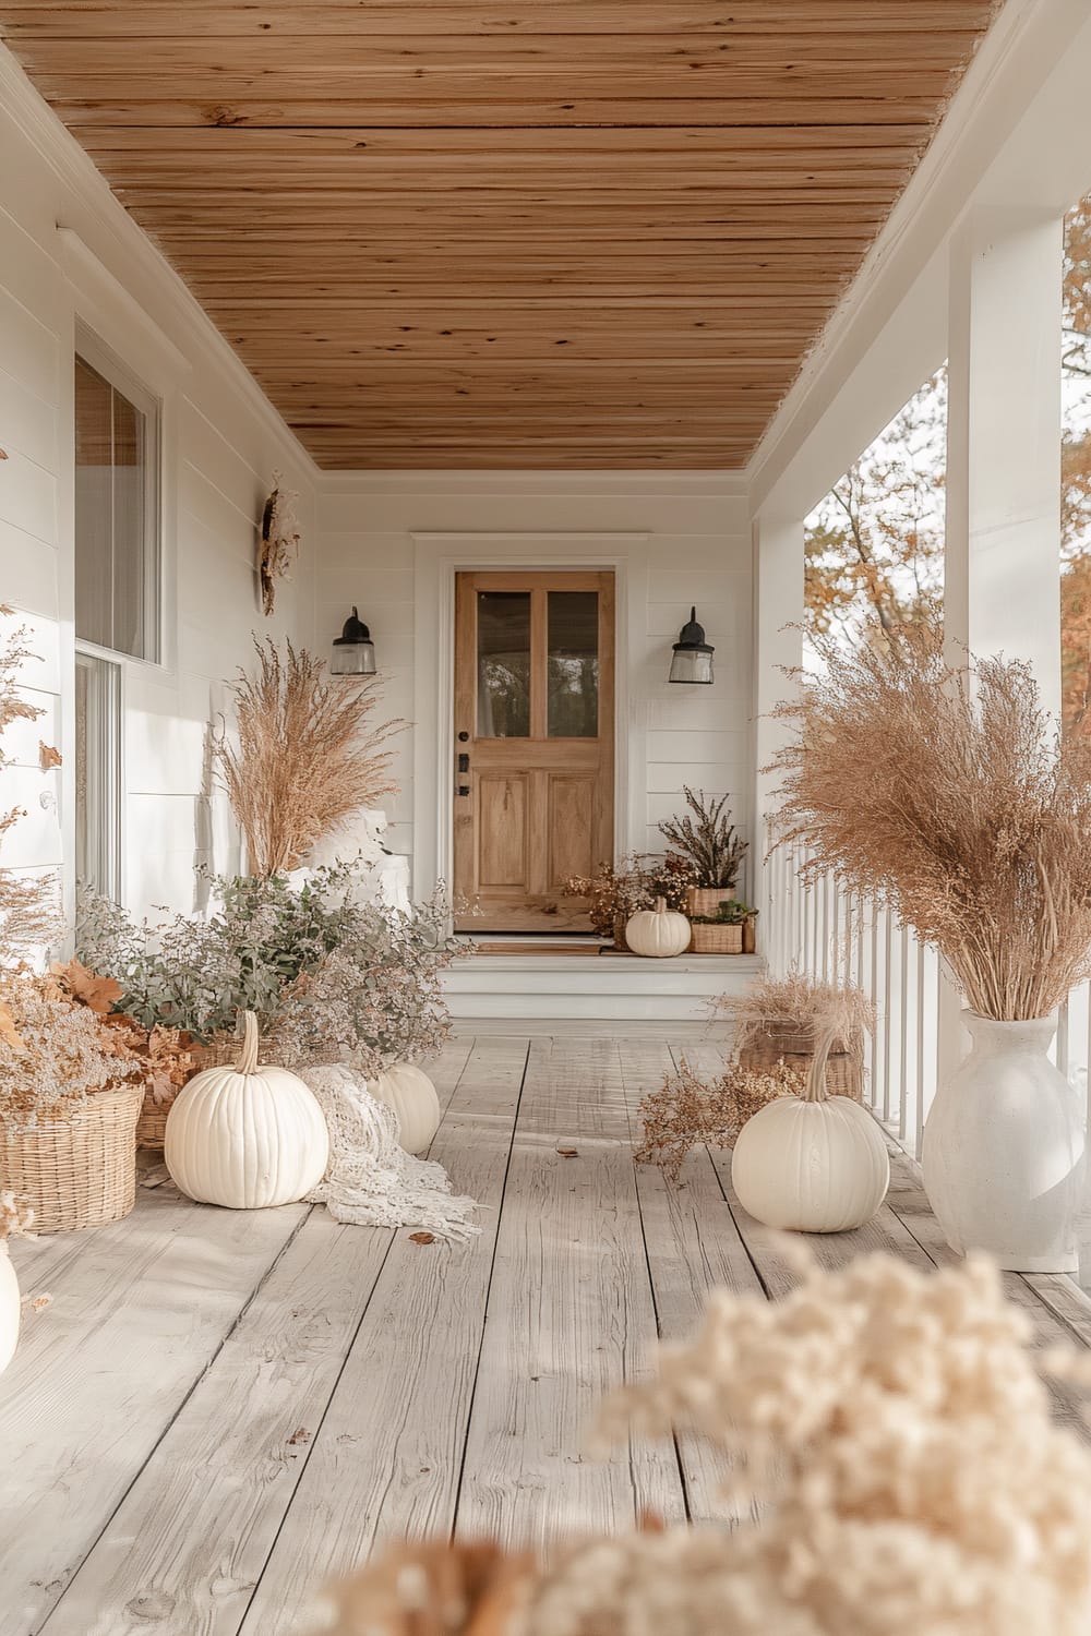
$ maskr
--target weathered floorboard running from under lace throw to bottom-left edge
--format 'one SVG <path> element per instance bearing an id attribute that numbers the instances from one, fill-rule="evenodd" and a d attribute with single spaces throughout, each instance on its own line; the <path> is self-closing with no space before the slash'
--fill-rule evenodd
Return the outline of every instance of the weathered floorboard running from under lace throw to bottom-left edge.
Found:
<path id="1" fill-rule="evenodd" d="M 442 1104 L 469 1050 L 450 1045 L 432 1065 Z M 46 1620 L 49 1636 L 239 1629 L 391 1240 L 309 1212 Z"/>

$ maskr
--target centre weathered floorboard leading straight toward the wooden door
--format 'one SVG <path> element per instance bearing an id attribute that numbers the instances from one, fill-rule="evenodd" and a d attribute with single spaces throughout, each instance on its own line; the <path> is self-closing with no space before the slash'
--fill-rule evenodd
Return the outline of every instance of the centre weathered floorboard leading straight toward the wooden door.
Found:
<path id="1" fill-rule="evenodd" d="M 563 1157 L 558 1148 L 576 1148 Z M 463 1538 L 545 1546 L 684 1517 L 674 1448 L 586 1454 L 656 1345 L 628 1114 L 608 1040 L 533 1040 L 458 1503 Z"/>

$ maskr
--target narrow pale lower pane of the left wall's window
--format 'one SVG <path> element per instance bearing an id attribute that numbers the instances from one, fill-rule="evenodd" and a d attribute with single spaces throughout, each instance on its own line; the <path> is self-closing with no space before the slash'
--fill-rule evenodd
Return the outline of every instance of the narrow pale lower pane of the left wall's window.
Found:
<path id="1" fill-rule="evenodd" d="M 105 897 L 121 877 L 121 672 L 75 656 L 75 874 Z"/>

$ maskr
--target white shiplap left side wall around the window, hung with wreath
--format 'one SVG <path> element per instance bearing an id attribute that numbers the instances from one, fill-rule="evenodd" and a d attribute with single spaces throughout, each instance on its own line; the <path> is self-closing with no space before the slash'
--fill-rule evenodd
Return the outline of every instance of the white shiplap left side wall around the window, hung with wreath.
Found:
<path id="1" fill-rule="evenodd" d="M 20 767 L 0 790 L 0 807 L 28 808 L 3 849 L 11 867 L 57 867 L 72 851 L 72 353 L 80 319 L 164 401 L 165 645 L 162 664 L 124 666 L 124 888 L 137 911 L 188 910 L 195 857 L 219 869 L 237 862 L 222 798 L 211 811 L 206 800 L 206 735 L 224 679 L 247 663 L 252 630 L 312 640 L 316 473 L 0 47 L 0 448 L 8 456 L 0 460 L 0 600 L 31 627 L 44 663 L 28 667 L 26 682 L 49 710 L 18 736 Z M 263 620 L 255 520 L 275 468 L 299 492 L 304 548 L 276 618 Z M 38 769 L 39 736 L 64 749 L 59 774 Z"/>

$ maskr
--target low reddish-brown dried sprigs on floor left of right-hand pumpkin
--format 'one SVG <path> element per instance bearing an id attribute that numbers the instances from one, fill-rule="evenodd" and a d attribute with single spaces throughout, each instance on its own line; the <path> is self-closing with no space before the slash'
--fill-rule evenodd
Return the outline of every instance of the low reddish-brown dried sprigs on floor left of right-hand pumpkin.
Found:
<path id="1" fill-rule="evenodd" d="M 777 1096 L 801 1096 L 805 1086 L 803 1072 L 783 1062 L 762 1072 L 728 1062 L 723 1073 L 703 1078 L 682 1057 L 677 1073 L 664 1075 L 659 1090 L 640 1104 L 643 1140 L 636 1163 L 658 1165 L 669 1181 L 677 1181 L 690 1148 L 705 1142 L 733 1147 L 748 1119 Z"/>

